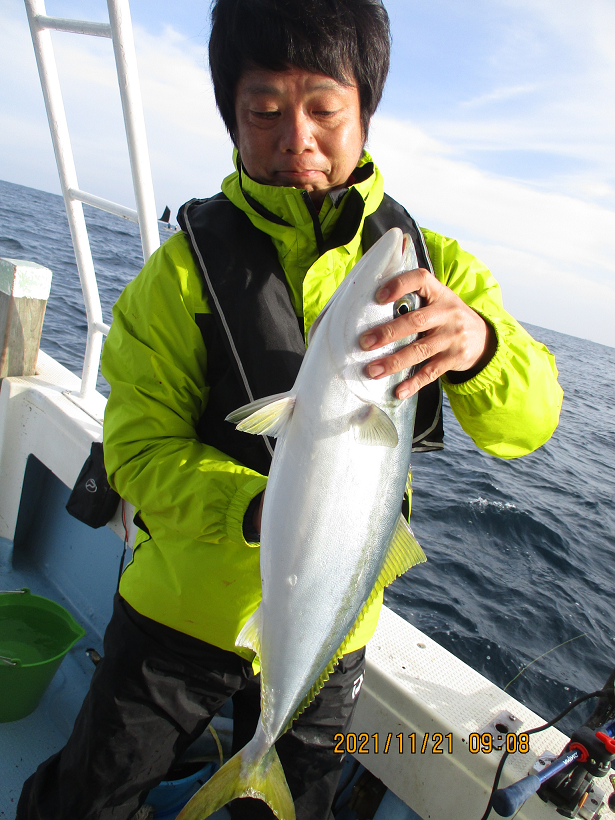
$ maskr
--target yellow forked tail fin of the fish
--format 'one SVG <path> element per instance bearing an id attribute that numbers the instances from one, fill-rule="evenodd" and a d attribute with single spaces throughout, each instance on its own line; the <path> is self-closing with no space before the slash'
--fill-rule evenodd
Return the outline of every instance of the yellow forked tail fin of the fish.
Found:
<path id="1" fill-rule="evenodd" d="M 238 797 L 263 800 L 279 820 L 295 820 L 293 798 L 275 746 L 265 754 L 255 754 L 255 741 L 244 746 L 199 789 L 177 820 L 204 820 Z"/>

